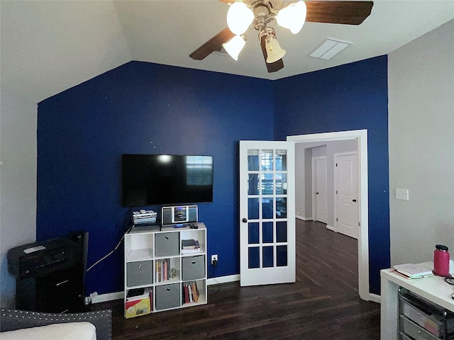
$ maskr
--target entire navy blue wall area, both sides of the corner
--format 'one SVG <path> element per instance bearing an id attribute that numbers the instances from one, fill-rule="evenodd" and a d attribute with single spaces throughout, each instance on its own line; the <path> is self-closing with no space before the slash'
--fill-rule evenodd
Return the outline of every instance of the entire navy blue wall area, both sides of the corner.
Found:
<path id="1" fill-rule="evenodd" d="M 37 239 L 89 232 L 91 265 L 118 244 L 123 153 L 211 154 L 209 277 L 239 273 L 238 141 L 368 130 L 370 291 L 389 267 L 387 57 L 268 81 L 128 62 L 38 104 Z M 147 207 L 160 211 L 160 207 Z M 87 294 L 123 290 L 123 247 L 87 275 Z"/>

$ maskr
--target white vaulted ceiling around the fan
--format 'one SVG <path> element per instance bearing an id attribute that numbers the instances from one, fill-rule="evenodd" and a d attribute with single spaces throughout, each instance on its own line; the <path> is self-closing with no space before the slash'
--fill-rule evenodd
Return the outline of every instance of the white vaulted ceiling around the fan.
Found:
<path id="1" fill-rule="evenodd" d="M 287 1 L 285 1 L 287 3 Z M 376 0 L 360 26 L 275 23 L 284 69 L 267 73 L 255 30 L 238 62 L 191 52 L 226 27 L 228 5 L 205 1 L 0 1 L 1 85 L 37 103 L 131 60 L 280 79 L 386 55 L 454 19 L 454 0 Z M 309 53 L 326 38 L 353 42 L 332 60 Z"/>

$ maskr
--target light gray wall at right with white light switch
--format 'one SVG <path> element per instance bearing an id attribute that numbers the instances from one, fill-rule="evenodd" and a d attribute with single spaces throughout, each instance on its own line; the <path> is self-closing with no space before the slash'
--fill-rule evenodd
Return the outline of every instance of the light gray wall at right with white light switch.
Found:
<path id="1" fill-rule="evenodd" d="M 391 262 L 454 258 L 454 21 L 389 54 Z M 409 189 L 409 201 L 395 188 Z"/>

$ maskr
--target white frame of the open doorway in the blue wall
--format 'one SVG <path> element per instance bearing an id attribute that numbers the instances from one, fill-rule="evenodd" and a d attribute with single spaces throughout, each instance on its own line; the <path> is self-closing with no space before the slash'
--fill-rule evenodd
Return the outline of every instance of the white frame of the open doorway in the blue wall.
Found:
<path id="1" fill-rule="evenodd" d="M 369 205 L 367 186 L 367 130 L 313 133 L 287 136 L 295 143 L 357 140 L 358 198 L 360 199 L 360 233 L 358 238 L 358 293 L 365 301 L 375 300 L 369 291 Z"/>

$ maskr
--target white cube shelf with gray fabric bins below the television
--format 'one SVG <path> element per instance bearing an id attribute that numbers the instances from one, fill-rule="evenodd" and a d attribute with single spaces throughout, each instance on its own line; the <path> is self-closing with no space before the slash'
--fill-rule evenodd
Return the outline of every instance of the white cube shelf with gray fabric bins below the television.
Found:
<path id="1" fill-rule="evenodd" d="M 206 227 L 137 226 L 125 235 L 125 317 L 206 304 Z M 198 241 L 182 249 L 182 240 Z"/>

